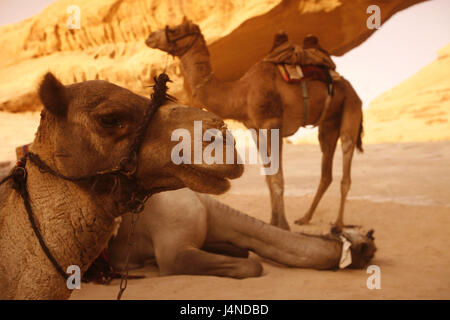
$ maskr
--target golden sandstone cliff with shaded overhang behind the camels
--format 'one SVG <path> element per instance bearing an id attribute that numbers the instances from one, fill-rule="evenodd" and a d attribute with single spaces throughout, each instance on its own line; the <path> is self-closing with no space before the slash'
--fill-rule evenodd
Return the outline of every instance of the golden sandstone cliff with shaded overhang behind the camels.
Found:
<path id="1" fill-rule="evenodd" d="M 380 3 L 382 22 L 422 0 Z M 40 14 L 0 27 L 0 111 L 41 108 L 37 81 L 48 70 L 72 83 L 104 79 L 147 95 L 166 55 L 144 45 L 148 34 L 184 15 L 200 25 L 216 74 L 239 77 L 266 54 L 272 37 L 284 29 L 300 42 L 315 33 L 333 54 L 364 41 L 369 1 L 354 0 L 79 0 L 80 29 L 69 29 L 68 7 L 58 0 Z M 167 59 L 172 94 L 184 98 L 178 60 Z"/>

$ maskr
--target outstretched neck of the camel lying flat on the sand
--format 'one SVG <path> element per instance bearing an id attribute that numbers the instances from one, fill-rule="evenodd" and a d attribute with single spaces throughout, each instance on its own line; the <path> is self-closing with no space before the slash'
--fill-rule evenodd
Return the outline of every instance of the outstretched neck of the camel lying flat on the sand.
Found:
<path id="1" fill-rule="evenodd" d="M 340 252 L 336 255 L 334 241 L 282 230 L 208 195 L 197 195 L 208 210 L 208 228 L 215 241 L 231 243 L 292 267 L 331 269 L 338 264 Z"/>

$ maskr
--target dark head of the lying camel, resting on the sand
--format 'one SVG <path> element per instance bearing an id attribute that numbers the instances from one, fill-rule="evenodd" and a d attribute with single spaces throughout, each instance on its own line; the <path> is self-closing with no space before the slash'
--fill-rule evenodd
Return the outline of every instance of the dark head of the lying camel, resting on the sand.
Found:
<path id="1" fill-rule="evenodd" d="M 345 229 L 342 233 L 352 243 L 350 247 L 352 263 L 349 267 L 354 269 L 365 268 L 377 251 L 375 238 L 373 237 L 374 231 L 370 230 L 364 234 L 355 229 Z"/>

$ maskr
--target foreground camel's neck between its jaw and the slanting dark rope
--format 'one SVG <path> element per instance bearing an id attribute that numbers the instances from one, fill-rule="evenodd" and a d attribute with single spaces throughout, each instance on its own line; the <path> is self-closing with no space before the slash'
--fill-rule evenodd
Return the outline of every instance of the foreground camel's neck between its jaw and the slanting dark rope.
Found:
<path id="1" fill-rule="evenodd" d="M 114 204 L 104 196 L 94 198 L 73 182 L 42 173 L 32 163 L 26 169 L 33 215 L 47 247 L 63 270 L 77 265 L 85 272 L 113 232 Z"/>

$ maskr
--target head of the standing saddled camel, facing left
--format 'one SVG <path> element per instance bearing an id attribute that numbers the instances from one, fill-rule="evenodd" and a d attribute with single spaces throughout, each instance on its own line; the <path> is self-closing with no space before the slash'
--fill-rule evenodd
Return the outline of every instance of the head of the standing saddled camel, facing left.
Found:
<path id="1" fill-rule="evenodd" d="M 181 57 L 199 38 L 204 41 L 199 26 L 184 18 L 183 22 L 175 27 L 166 26 L 162 30 L 150 33 L 145 44 L 152 49 Z"/>

